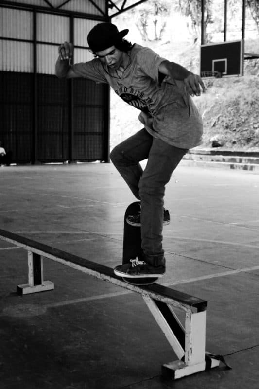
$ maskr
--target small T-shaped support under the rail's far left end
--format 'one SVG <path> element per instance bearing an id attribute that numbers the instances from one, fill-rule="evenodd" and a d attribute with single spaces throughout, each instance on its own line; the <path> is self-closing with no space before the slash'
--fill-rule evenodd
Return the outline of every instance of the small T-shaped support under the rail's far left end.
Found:
<path id="1" fill-rule="evenodd" d="M 54 283 L 43 281 L 43 257 L 28 251 L 28 283 L 17 285 L 19 295 L 43 292 L 54 289 Z"/>

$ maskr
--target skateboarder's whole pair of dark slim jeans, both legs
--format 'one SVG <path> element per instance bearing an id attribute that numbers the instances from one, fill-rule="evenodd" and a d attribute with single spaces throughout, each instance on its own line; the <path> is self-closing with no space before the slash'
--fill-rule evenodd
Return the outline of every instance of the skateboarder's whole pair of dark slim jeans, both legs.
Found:
<path id="1" fill-rule="evenodd" d="M 162 247 L 165 185 L 188 149 L 153 138 L 144 128 L 118 144 L 110 159 L 133 195 L 141 201 L 141 248 L 145 261 L 165 263 Z M 139 161 L 147 160 L 144 171 Z"/>

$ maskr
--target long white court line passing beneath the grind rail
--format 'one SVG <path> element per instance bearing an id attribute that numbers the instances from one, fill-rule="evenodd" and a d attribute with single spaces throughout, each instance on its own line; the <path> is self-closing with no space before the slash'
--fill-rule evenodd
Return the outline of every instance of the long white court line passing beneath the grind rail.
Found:
<path id="1" fill-rule="evenodd" d="M 239 274 L 239 273 L 244 273 L 244 272 L 246 273 L 248 271 L 253 271 L 253 270 L 259 270 L 259 266 L 244 267 L 242 269 L 236 269 L 236 270 L 228 270 L 228 271 L 224 271 L 222 273 L 212 273 L 212 274 L 207 274 L 206 276 L 193 277 L 193 278 L 189 278 L 189 279 L 179 280 L 176 282 L 168 281 L 166 283 L 161 283 L 161 285 L 163 285 L 163 286 L 175 286 L 175 285 L 179 285 L 182 283 L 193 283 L 193 282 L 197 282 L 197 281 L 210 280 L 212 278 L 229 276 L 229 275 Z M 53 302 L 50 304 L 44 304 L 43 306 L 45 308 L 55 308 L 55 307 L 60 307 L 60 306 L 65 306 L 65 305 L 70 305 L 70 304 L 77 304 L 80 302 L 97 301 L 97 300 L 108 299 L 108 298 L 112 298 L 112 297 L 119 297 L 119 296 L 127 295 L 130 293 L 134 293 L 134 292 L 126 290 L 123 292 L 104 293 L 101 295 L 95 295 L 95 296 L 91 296 L 91 297 L 82 297 L 79 299 Z"/>

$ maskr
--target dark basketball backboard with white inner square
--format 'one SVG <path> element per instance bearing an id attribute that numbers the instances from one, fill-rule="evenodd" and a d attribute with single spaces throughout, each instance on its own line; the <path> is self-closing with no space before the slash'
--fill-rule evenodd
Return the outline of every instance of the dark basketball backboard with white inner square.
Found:
<path id="1" fill-rule="evenodd" d="M 201 45 L 201 77 L 242 76 L 243 60 L 243 40 Z"/>

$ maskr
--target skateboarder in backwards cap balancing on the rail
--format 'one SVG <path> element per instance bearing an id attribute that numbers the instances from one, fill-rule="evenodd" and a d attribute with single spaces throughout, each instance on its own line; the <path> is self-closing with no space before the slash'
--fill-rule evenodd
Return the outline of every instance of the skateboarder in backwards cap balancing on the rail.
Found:
<path id="1" fill-rule="evenodd" d="M 161 277 L 165 273 L 162 248 L 163 223 L 170 217 L 164 210 L 165 185 L 187 153 L 201 144 L 202 119 L 191 96 L 199 96 L 201 78 L 169 62 L 152 50 L 123 39 L 128 29 L 118 31 L 111 23 L 99 23 L 87 41 L 95 59 L 70 65 L 73 45 L 59 46 L 58 77 L 85 77 L 108 83 L 128 104 L 138 108 L 144 128 L 116 146 L 110 158 L 132 193 L 141 202 L 138 215 L 127 222 L 141 225 L 141 258 L 118 265 L 116 275 L 126 278 Z M 139 161 L 148 159 L 144 171 Z"/>

